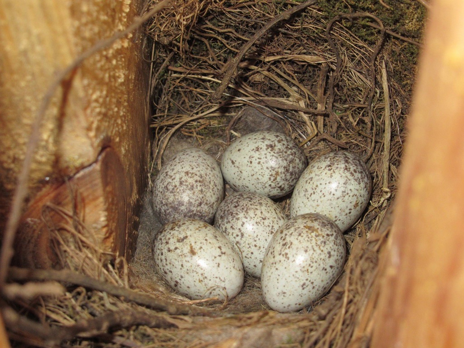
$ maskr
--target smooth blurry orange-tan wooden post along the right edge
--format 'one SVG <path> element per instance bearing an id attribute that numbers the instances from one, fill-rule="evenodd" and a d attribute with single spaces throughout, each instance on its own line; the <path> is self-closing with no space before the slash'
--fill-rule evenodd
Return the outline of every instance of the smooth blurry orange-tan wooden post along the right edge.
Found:
<path id="1" fill-rule="evenodd" d="M 464 2 L 433 1 L 371 346 L 464 342 Z"/>

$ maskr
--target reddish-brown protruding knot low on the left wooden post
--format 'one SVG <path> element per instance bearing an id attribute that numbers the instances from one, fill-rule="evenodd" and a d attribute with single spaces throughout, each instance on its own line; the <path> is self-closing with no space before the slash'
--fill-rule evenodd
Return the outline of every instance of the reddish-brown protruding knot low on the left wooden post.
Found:
<path id="1" fill-rule="evenodd" d="M 92 245 L 101 245 L 102 251 L 109 251 L 105 245 L 114 245 L 110 251 L 123 255 L 131 226 L 121 212 L 128 211 L 129 201 L 118 197 L 129 197 L 130 192 L 127 178 L 115 173 L 124 173 L 124 168 L 116 151 L 105 148 L 89 167 L 63 184 L 42 191 L 20 221 L 14 263 L 41 268 L 59 266 L 51 249 L 51 232 L 63 234 L 62 226 L 73 226 L 73 215 L 83 223 L 75 229 Z"/>

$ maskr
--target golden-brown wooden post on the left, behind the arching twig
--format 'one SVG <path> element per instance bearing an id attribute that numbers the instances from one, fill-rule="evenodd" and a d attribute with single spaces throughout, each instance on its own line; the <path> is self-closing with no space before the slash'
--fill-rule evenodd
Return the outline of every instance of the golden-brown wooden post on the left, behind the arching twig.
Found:
<path id="1" fill-rule="evenodd" d="M 33 118 L 57 71 L 129 26 L 142 2 L 0 0 L 1 230 Z M 142 45 L 141 30 L 117 40 L 85 60 L 54 94 L 41 125 L 16 243 L 22 249 L 20 241 L 28 241 L 21 250 L 26 265 L 50 265 L 42 206 L 58 201 L 72 208 L 71 196 L 64 198 L 70 192 L 65 180 L 86 202 L 77 213 L 94 228 L 102 248 L 129 258 L 134 251 L 149 154 L 148 67 Z M 24 228 L 31 222 L 41 228 Z"/>

